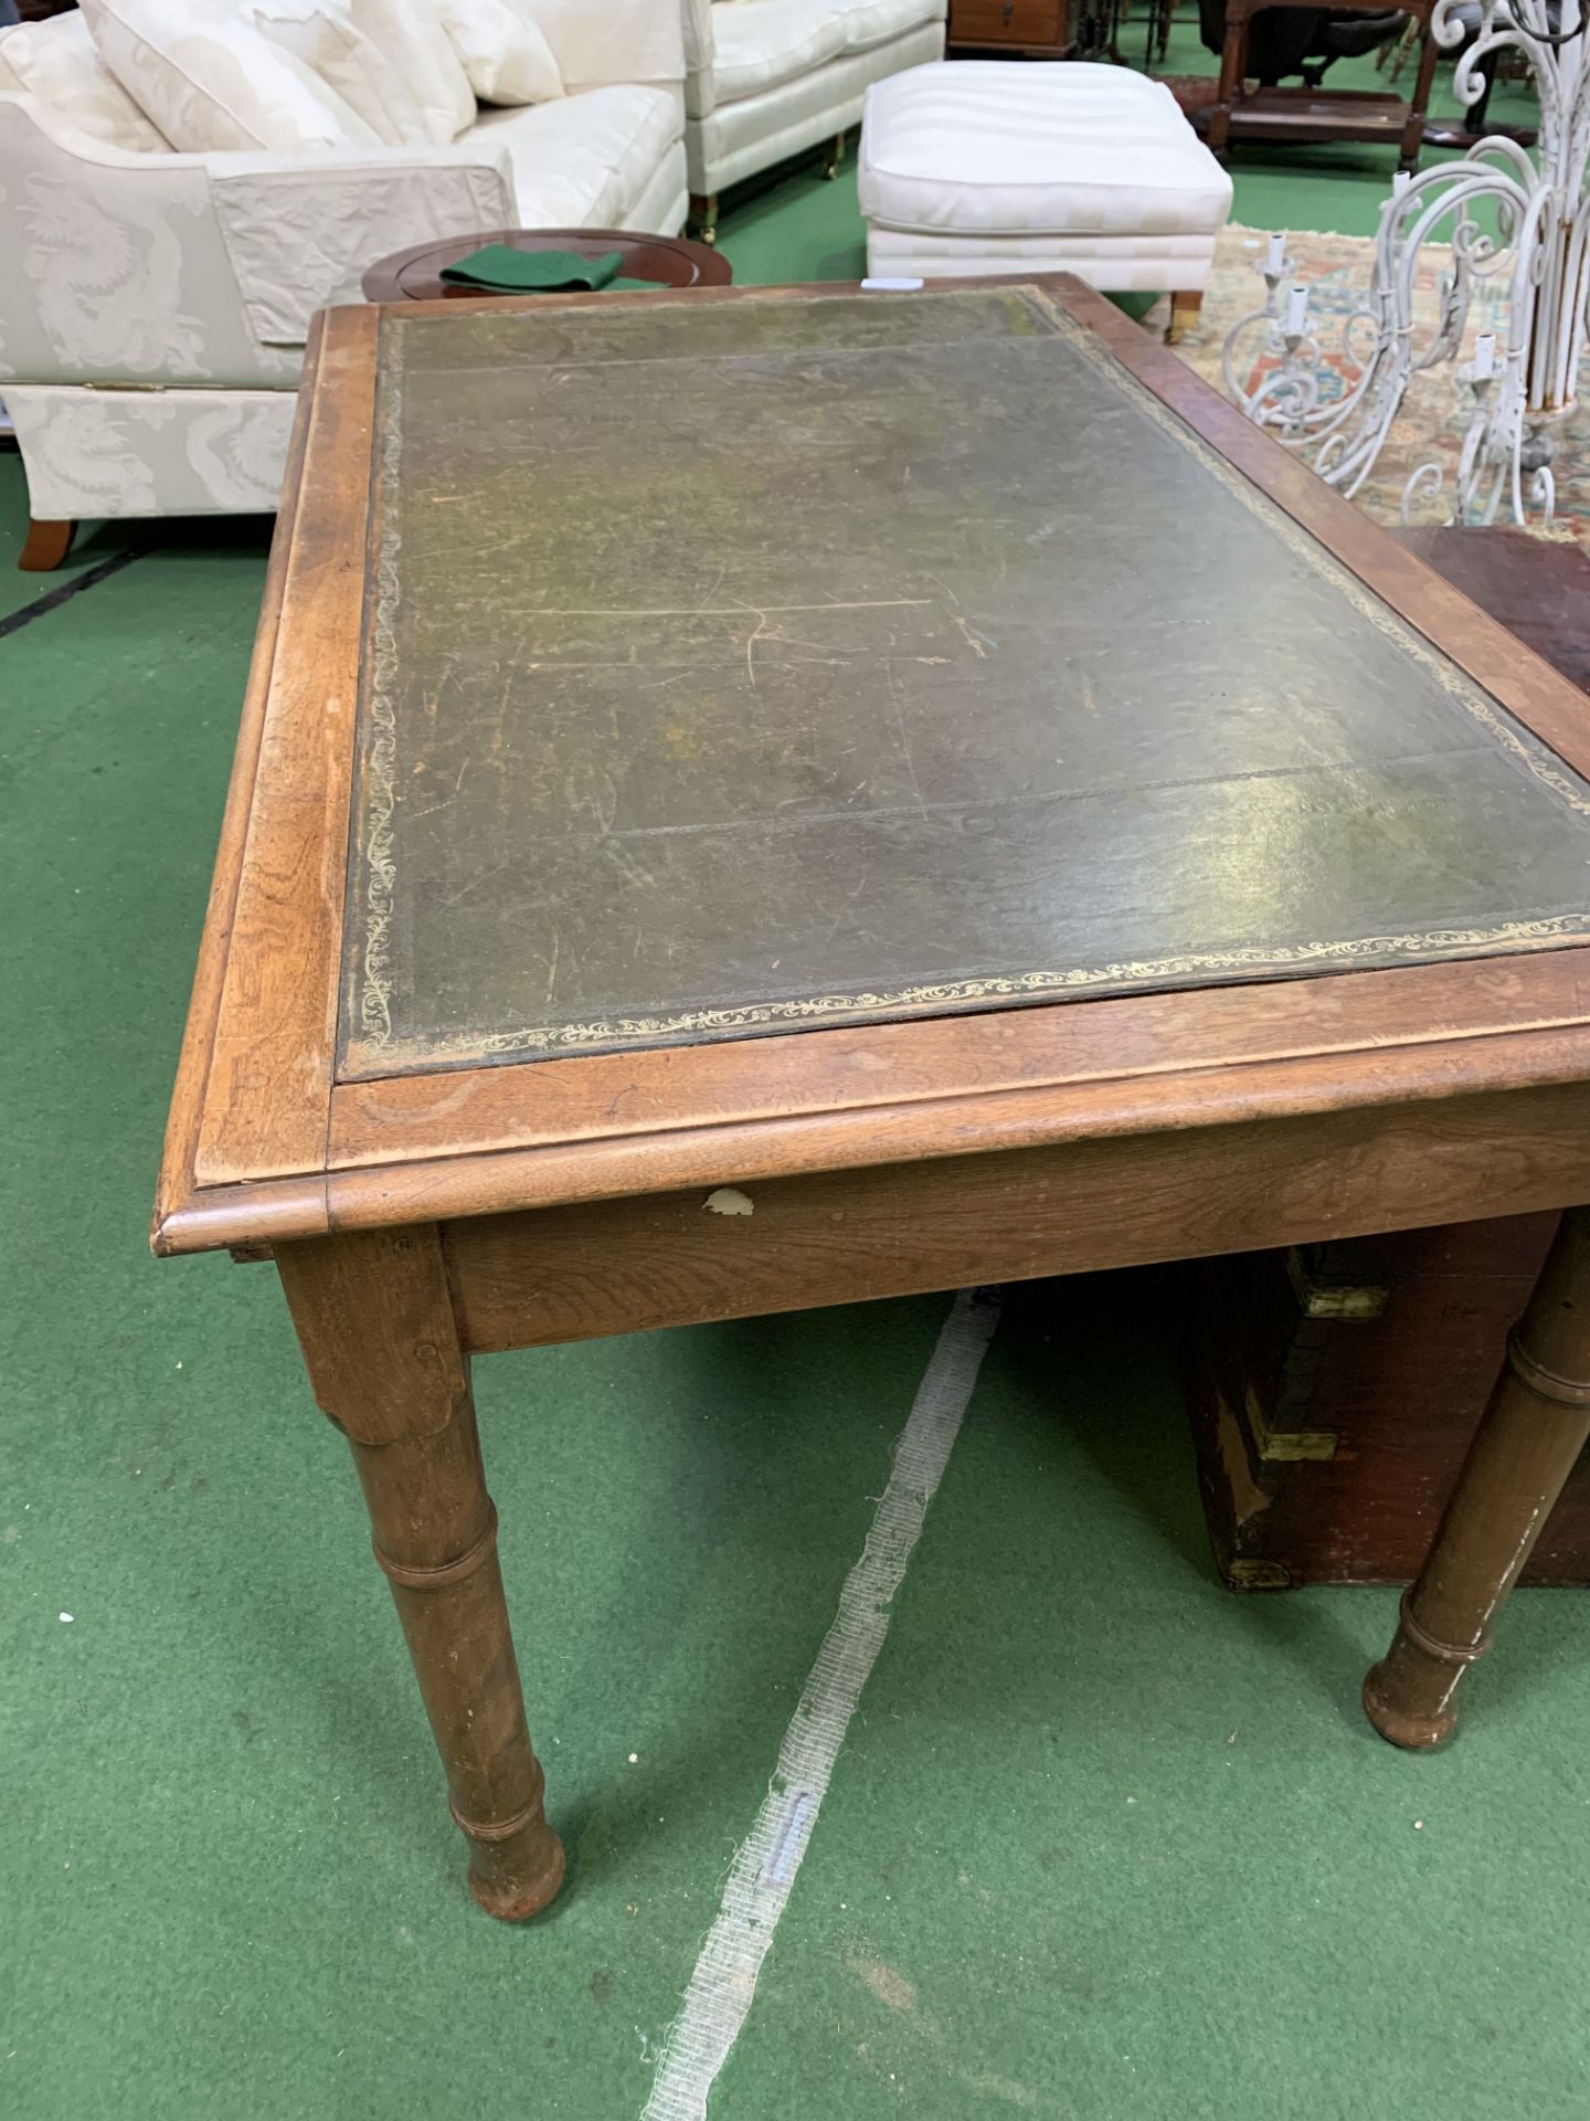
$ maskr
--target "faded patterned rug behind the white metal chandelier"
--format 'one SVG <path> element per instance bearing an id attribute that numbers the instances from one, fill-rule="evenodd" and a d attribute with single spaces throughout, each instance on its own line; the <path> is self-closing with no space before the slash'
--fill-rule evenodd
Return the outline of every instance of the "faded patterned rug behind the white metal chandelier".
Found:
<path id="1" fill-rule="evenodd" d="M 1215 252 L 1215 271 L 1204 293 L 1200 329 L 1189 333 L 1177 352 L 1217 390 L 1225 390 L 1221 373 L 1221 350 L 1225 333 L 1253 310 L 1264 308 L 1264 280 L 1255 271 L 1264 257 L 1268 238 L 1264 231 L 1227 227 Z M 1295 233 L 1289 238 L 1289 252 L 1297 261 L 1295 278 L 1308 284 L 1310 329 L 1325 352 L 1327 367 L 1342 378 L 1340 388 L 1350 386 L 1359 371 L 1353 354 L 1342 346 L 1342 327 L 1357 301 L 1370 288 L 1374 271 L 1374 240 L 1367 235 L 1319 235 Z M 1420 259 L 1416 288 L 1416 331 L 1427 339 L 1435 327 L 1437 288 L 1444 271 L 1450 269 L 1450 250 L 1442 244 L 1427 244 Z M 1505 331 L 1505 291 L 1499 295 L 1484 288 L 1469 310 L 1469 344 L 1482 331 Z M 1164 329 L 1168 303 L 1160 301 L 1145 318 L 1149 329 Z M 1465 348 L 1467 352 L 1467 348 Z M 1236 378 L 1244 388 L 1276 367 L 1264 354 L 1264 333 L 1244 335 L 1234 363 Z M 1418 375 L 1408 388 L 1403 409 L 1386 437 L 1380 460 L 1372 475 L 1357 490 L 1355 501 L 1376 522 L 1401 522 L 1401 494 L 1418 464 L 1437 460 L 1446 471 L 1442 492 L 1416 501 L 1410 522 L 1446 522 L 1452 507 L 1452 471 L 1463 448 L 1463 435 L 1473 409 L 1473 392 L 1459 384 L 1450 367 Z M 1575 537 L 1590 545 L 1590 375 L 1582 382 L 1582 409 L 1565 420 L 1556 433 L 1556 456 L 1552 462 L 1556 477 L 1556 537 Z M 1499 520 L 1512 522 L 1512 515 Z M 1539 520 L 1531 522 L 1539 528 Z M 1548 532 L 1552 534 L 1552 532 Z"/>

